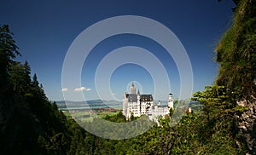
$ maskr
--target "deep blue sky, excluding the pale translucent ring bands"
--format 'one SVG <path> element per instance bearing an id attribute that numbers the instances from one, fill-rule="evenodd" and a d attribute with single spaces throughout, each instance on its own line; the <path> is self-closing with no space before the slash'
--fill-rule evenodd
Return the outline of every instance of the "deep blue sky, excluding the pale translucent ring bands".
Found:
<path id="1" fill-rule="evenodd" d="M 195 92 L 211 84 L 217 76 L 218 64 L 213 60 L 213 49 L 231 24 L 233 7 L 231 0 L 221 3 L 218 0 L 9 0 L 1 3 L 0 24 L 10 26 L 22 55 L 17 60 L 28 60 L 32 73 L 36 72 L 39 82 L 43 83 L 49 100 L 63 100 L 61 89 L 66 88 L 61 87 L 61 69 L 73 40 L 92 24 L 118 15 L 147 17 L 172 30 L 189 55 Z M 83 90 L 87 100 L 98 98 L 96 67 L 104 56 L 123 46 L 141 47 L 156 55 L 166 67 L 170 91 L 177 98 L 180 80 L 172 57 L 147 37 L 124 34 L 99 43 L 84 62 L 81 75 L 81 87 L 84 88 L 77 90 Z M 154 80 L 150 72 L 134 64 L 119 66 L 113 72 L 109 82 L 111 92 L 121 100 L 131 81 L 135 81 L 143 93 L 154 94 Z M 169 92 L 158 91 L 161 95 L 156 100 L 167 100 Z M 74 95 L 73 100 L 79 99 Z"/>

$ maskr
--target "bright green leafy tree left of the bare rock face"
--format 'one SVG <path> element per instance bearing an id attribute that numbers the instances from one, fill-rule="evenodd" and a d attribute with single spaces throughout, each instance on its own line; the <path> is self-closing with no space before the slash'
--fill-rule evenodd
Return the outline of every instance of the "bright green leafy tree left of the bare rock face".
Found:
<path id="1" fill-rule="evenodd" d="M 211 153 L 244 153 L 245 147 L 236 148 L 235 141 L 238 134 L 234 114 L 243 112 L 246 108 L 236 106 L 232 96 L 227 95 L 225 87 L 218 85 L 207 86 L 204 91 L 196 92 L 192 100 L 198 100 L 204 106 L 200 125 L 201 131 L 204 132 L 200 135 L 200 139 L 212 143 L 205 149 Z M 217 152 L 211 150 L 212 146 L 219 150 Z M 225 148 L 229 148 L 228 152 Z"/>

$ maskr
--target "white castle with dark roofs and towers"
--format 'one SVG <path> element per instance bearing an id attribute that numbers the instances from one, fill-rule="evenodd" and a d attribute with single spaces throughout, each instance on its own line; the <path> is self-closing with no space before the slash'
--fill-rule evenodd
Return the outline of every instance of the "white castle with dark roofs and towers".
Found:
<path id="1" fill-rule="evenodd" d="M 130 94 L 125 92 L 123 100 L 123 114 L 125 118 L 140 117 L 147 115 L 150 120 L 156 120 L 159 116 L 165 116 L 170 113 L 170 109 L 173 109 L 172 94 L 169 94 L 168 105 L 161 106 L 160 101 L 154 105 L 154 99 L 152 95 L 141 95 L 136 89 L 134 84 L 131 83 Z"/>

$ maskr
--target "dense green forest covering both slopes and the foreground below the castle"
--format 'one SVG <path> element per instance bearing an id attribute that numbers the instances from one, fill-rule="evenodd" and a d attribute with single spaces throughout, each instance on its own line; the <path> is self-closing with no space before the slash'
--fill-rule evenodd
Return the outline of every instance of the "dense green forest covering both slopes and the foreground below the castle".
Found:
<path id="1" fill-rule="evenodd" d="M 126 140 L 92 135 L 59 111 L 28 62 L 15 61 L 13 34 L 0 26 L 0 154 L 255 154 L 256 0 L 235 3 L 232 26 L 215 50 L 218 77 L 191 98 L 202 110 L 174 127 L 171 112 Z M 126 122 L 121 112 L 105 119 Z"/>

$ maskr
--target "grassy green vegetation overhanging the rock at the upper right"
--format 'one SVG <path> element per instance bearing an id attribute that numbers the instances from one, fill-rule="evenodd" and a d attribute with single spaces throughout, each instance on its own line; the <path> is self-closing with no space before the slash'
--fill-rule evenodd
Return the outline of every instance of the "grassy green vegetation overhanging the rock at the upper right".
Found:
<path id="1" fill-rule="evenodd" d="M 255 95 L 256 79 L 256 2 L 240 1 L 233 25 L 216 48 L 220 64 L 216 83 L 235 92 L 240 100 Z"/>

